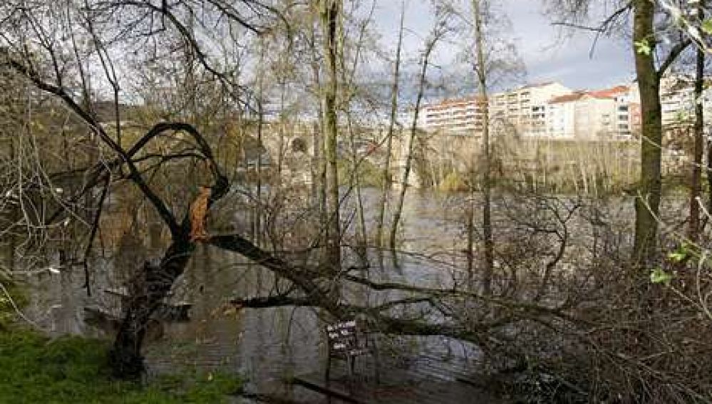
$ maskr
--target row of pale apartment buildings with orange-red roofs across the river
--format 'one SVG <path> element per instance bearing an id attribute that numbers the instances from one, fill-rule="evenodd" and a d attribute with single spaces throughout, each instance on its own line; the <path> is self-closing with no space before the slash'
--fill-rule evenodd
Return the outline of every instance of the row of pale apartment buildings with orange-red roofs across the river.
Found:
<path id="1" fill-rule="evenodd" d="M 423 108 L 421 128 L 477 136 L 483 113 L 480 98 L 445 100 Z M 636 86 L 574 91 L 555 82 L 532 84 L 491 95 L 489 113 L 495 135 L 505 128 L 532 138 L 625 140 L 640 130 Z"/>

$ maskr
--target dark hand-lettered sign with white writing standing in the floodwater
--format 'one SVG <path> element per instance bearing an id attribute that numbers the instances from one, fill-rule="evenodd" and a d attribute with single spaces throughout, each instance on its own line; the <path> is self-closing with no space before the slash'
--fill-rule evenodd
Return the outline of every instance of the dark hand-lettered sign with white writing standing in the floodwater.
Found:
<path id="1" fill-rule="evenodd" d="M 333 323 L 326 326 L 326 336 L 329 343 L 329 354 L 326 358 L 326 380 L 329 380 L 331 358 L 344 359 L 349 368 L 349 376 L 354 376 L 354 366 L 358 356 L 373 356 L 376 363 L 376 380 L 378 380 L 378 351 L 376 344 L 368 341 L 368 333 L 359 330 L 356 320 Z"/>

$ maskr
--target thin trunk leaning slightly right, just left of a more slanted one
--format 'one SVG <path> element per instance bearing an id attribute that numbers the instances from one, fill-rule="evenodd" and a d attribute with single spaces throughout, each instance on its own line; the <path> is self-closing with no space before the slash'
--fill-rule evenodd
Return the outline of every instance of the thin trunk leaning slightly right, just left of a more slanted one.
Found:
<path id="1" fill-rule="evenodd" d="M 391 85 L 391 120 L 388 123 L 386 138 L 386 161 L 383 162 L 383 177 L 381 184 L 381 201 L 378 203 L 378 223 L 376 224 L 376 248 L 383 246 L 383 222 L 386 219 L 386 200 L 391 192 L 391 155 L 393 154 L 393 130 L 396 126 L 398 113 L 398 81 L 401 78 L 401 49 L 403 48 L 403 20 L 406 14 L 406 2 L 401 1 L 401 24 L 398 29 L 398 46 L 396 47 L 396 63 L 393 67 L 393 84 Z"/>

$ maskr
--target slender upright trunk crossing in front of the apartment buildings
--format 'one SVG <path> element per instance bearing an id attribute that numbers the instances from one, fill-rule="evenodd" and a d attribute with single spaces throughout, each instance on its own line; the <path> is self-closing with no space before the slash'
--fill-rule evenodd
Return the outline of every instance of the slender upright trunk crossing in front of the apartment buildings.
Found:
<path id="1" fill-rule="evenodd" d="M 473 17 L 475 19 L 475 43 L 477 46 L 477 76 L 480 86 L 478 103 L 482 103 L 483 128 L 482 128 L 482 187 L 483 187 L 483 216 L 482 227 L 484 236 L 485 257 L 483 261 L 484 276 L 482 281 L 483 293 L 491 294 L 492 271 L 494 271 L 495 246 L 492 242 L 492 189 L 490 184 L 490 111 L 487 95 L 487 71 L 485 61 L 485 31 L 483 26 L 483 7 L 481 0 L 473 0 Z M 537 147 L 538 151 L 538 147 Z M 472 230 L 472 229 L 470 229 Z M 470 246 L 470 248 L 472 248 Z M 470 250 L 472 257 L 472 250 Z M 471 265 L 471 264 L 470 264 Z"/>

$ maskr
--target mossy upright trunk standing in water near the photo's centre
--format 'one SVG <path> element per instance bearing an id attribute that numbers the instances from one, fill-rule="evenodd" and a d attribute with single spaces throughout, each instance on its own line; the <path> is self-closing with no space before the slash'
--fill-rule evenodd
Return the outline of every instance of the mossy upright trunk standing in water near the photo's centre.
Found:
<path id="1" fill-rule="evenodd" d="M 324 34 L 324 60 L 329 80 L 324 89 L 324 140 L 326 148 L 326 198 L 329 214 L 326 237 L 327 263 L 332 269 L 341 267 L 341 223 L 339 219 L 339 172 L 337 169 L 336 141 L 339 128 L 336 122 L 336 92 L 338 74 L 336 59 L 339 54 L 339 16 L 341 0 L 320 0 L 321 29 Z"/>

